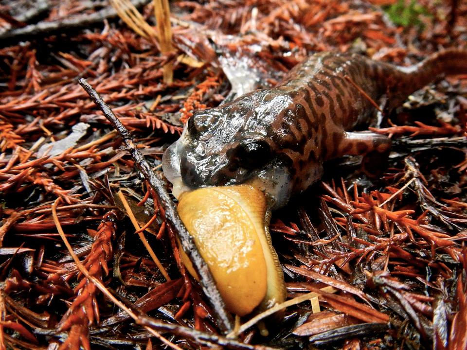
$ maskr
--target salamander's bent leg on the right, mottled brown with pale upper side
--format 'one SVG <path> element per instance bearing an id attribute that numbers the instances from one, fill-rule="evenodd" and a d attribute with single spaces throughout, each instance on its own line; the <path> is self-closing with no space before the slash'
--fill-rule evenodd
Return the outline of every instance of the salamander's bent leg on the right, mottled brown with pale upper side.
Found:
<path id="1" fill-rule="evenodd" d="M 361 162 L 363 172 L 375 177 L 386 168 L 391 139 L 371 132 L 345 132 L 342 140 L 341 156 L 364 156 Z"/>

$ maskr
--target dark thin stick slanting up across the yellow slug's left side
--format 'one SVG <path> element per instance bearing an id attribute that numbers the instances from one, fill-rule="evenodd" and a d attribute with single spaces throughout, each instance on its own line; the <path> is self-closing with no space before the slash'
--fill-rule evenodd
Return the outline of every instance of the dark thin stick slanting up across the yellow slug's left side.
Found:
<path id="1" fill-rule="evenodd" d="M 195 270 L 200 277 L 201 286 L 203 288 L 204 294 L 208 297 L 211 306 L 214 309 L 217 323 L 221 330 L 226 333 L 229 333 L 233 330 L 232 317 L 225 310 L 224 300 L 220 297 L 219 291 L 217 289 L 216 283 L 214 282 L 211 271 L 209 270 L 208 265 L 204 262 L 203 258 L 198 252 L 196 245 L 193 241 L 193 238 L 188 233 L 185 228 L 185 225 L 180 220 L 180 216 L 175 208 L 175 204 L 170 198 L 169 193 L 167 192 L 163 182 L 159 179 L 156 174 L 154 174 L 149 167 L 149 164 L 146 162 L 143 154 L 136 148 L 135 143 L 126 129 L 126 127 L 120 122 L 120 120 L 115 116 L 110 107 L 102 100 L 96 90 L 94 90 L 84 78 L 79 79 L 79 85 L 81 85 L 86 92 L 90 95 L 94 103 L 99 106 L 99 108 L 104 113 L 104 116 L 108 121 L 113 125 L 113 127 L 119 132 L 120 137 L 125 143 L 126 148 L 128 149 L 129 154 L 135 161 L 136 167 L 144 175 L 144 178 L 151 185 L 154 191 L 159 196 L 160 203 L 165 210 L 165 218 L 172 227 L 177 231 L 177 234 L 180 238 L 180 243 L 185 251 L 185 253 L 190 258 Z"/>

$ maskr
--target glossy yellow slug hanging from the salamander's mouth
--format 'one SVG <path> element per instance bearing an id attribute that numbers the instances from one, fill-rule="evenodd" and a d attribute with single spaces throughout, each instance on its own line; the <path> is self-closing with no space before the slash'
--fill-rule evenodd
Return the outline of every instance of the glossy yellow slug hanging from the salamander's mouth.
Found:
<path id="1" fill-rule="evenodd" d="M 263 192 L 249 185 L 205 187 L 183 193 L 178 211 L 227 310 L 243 316 L 285 299 L 284 276 L 265 229 Z M 197 278 L 188 257 L 180 255 Z"/>

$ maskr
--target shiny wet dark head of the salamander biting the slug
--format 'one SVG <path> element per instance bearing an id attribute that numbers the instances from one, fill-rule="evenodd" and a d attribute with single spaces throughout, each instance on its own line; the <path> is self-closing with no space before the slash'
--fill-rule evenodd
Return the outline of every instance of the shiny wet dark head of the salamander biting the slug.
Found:
<path id="1" fill-rule="evenodd" d="M 174 195 L 203 186 L 247 183 L 268 193 L 273 209 L 284 206 L 295 171 L 294 161 L 277 142 L 284 124 L 277 119 L 284 119 L 293 105 L 278 89 L 256 90 L 195 113 L 162 158 Z"/>

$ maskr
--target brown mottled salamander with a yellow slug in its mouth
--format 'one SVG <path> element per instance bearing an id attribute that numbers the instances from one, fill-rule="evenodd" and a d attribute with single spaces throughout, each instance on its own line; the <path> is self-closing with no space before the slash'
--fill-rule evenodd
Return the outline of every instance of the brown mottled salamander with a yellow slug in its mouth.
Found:
<path id="1" fill-rule="evenodd" d="M 323 173 L 323 161 L 388 151 L 391 141 L 352 132 L 441 74 L 467 73 L 467 51 L 435 53 L 410 67 L 357 54 L 316 53 L 276 87 L 198 111 L 162 159 L 174 194 L 186 188 L 250 183 L 275 198 L 274 209 Z M 359 87 L 359 88 L 357 88 Z"/>

